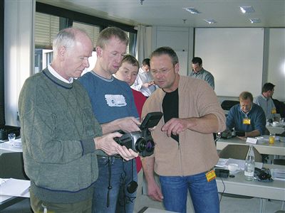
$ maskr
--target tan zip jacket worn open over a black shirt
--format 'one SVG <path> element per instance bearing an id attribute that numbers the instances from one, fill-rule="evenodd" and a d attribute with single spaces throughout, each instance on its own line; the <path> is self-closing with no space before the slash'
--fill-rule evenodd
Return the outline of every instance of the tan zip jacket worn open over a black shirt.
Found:
<path id="1" fill-rule="evenodd" d="M 178 85 L 179 117 L 201 117 L 207 114 L 217 116 L 219 131 L 224 131 L 225 116 L 214 90 L 207 82 L 192 77 L 180 76 Z M 151 111 L 162 111 L 165 92 L 157 89 L 145 102 L 142 117 Z M 165 121 L 162 117 L 152 137 L 155 152 L 149 158 L 155 158 L 155 173 L 167 176 L 185 176 L 202 173 L 216 165 L 219 156 L 214 146 L 212 133 L 203 134 L 191 130 L 180 133 L 180 143 L 161 131 Z"/>

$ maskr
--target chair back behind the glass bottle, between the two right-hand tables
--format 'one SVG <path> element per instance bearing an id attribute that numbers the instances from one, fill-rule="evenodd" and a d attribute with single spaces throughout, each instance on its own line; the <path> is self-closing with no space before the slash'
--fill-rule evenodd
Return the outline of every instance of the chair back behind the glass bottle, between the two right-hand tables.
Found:
<path id="1" fill-rule="evenodd" d="M 245 160 L 245 158 L 247 158 L 248 151 L 249 146 L 247 145 L 229 144 L 219 153 L 219 158 L 234 158 Z M 262 163 L 262 156 L 256 148 L 254 148 L 254 158 L 256 162 Z"/>

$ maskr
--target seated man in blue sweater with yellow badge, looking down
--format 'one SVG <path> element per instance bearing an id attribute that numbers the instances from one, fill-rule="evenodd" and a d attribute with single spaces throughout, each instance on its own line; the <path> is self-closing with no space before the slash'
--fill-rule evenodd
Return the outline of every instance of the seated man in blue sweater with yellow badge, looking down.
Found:
<path id="1" fill-rule="evenodd" d="M 243 139 L 247 137 L 261 136 L 264 134 L 266 117 L 264 111 L 257 104 L 253 103 L 250 92 L 239 94 L 239 104 L 229 109 L 227 116 L 227 130 L 234 128 L 237 137 Z M 238 133 L 244 133 L 238 134 Z"/>

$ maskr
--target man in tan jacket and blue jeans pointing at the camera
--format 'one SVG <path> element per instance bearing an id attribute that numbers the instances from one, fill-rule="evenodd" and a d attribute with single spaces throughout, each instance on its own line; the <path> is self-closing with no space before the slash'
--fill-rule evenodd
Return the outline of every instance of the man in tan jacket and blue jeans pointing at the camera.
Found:
<path id="1" fill-rule="evenodd" d="M 211 170 L 219 159 L 213 133 L 226 126 L 217 96 L 207 82 L 178 74 L 178 58 L 171 48 L 158 48 L 150 55 L 150 72 L 160 89 L 145 102 L 142 117 L 162 111 L 163 119 L 152 131 L 154 154 L 142 159 L 147 194 L 163 201 L 168 211 L 186 212 L 189 190 L 195 212 L 219 212 Z"/>

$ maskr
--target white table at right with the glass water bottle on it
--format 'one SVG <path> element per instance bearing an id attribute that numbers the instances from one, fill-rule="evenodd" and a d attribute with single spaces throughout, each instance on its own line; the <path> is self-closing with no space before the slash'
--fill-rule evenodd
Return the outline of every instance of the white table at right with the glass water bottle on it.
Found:
<path id="1" fill-rule="evenodd" d="M 264 164 L 263 168 L 285 170 L 284 165 Z M 265 211 L 267 199 L 285 201 L 285 180 L 276 179 L 273 182 L 248 181 L 244 179 L 243 171 L 234 174 L 234 178 L 217 178 L 216 180 L 219 192 L 260 198 L 260 212 Z"/>

